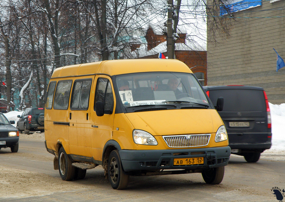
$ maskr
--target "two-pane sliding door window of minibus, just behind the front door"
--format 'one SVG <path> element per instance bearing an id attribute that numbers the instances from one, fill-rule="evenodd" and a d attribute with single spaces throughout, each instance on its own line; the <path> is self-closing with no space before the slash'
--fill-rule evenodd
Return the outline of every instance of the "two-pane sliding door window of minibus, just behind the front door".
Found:
<path id="1" fill-rule="evenodd" d="M 92 79 L 74 81 L 70 109 L 88 109 Z"/>

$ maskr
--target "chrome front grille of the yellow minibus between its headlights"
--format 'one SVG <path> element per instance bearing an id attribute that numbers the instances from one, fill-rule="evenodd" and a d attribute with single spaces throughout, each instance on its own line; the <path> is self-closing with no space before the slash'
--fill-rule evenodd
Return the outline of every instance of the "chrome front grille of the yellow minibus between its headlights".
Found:
<path id="1" fill-rule="evenodd" d="M 201 147 L 209 144 L 211 134 L 162 136 L 168 147 Z"/>

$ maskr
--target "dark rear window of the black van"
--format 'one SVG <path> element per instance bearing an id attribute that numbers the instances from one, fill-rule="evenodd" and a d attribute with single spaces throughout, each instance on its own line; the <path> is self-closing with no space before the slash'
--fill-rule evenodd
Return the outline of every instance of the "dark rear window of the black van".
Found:
<path id="1" fill-rule="evenodd" d="M 250 89 L 211 90 L 210 99 L 217 104 L 218 97 L 224 98 L 223 111 L 266 111 L 263 91 Z"/>

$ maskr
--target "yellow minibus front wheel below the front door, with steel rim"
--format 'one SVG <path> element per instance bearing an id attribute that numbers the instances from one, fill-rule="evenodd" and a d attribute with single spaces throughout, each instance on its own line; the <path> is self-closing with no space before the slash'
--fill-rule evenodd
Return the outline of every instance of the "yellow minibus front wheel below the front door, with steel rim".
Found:
<path id="1" fill-rule="evenodd" d="M 113 189 L 125 189 L 129 183 L 129 175 L 123 173 L 118 150 L 110 153 L 108 161 L 109 181 Z"/>

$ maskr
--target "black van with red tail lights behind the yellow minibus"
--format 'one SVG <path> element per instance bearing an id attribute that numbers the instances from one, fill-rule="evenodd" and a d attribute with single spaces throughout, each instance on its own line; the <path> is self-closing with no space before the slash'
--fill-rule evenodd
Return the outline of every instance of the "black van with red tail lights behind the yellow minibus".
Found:
<path id="1" fill-rule="evenodd" d="M 271 118 L 263 88 L 243 85 L 204 86 L 215 105 L 224 98 L 223 110 L 218 111 L 229 137 L 231 153 L 257 162 L 260 153 L 271 147 Z"/>

